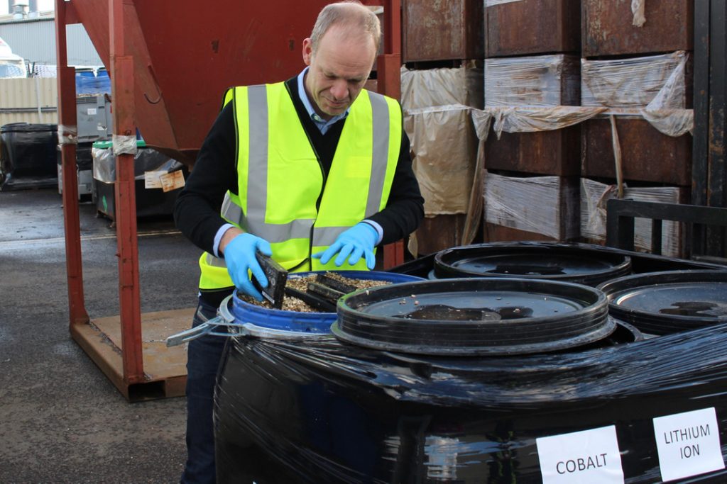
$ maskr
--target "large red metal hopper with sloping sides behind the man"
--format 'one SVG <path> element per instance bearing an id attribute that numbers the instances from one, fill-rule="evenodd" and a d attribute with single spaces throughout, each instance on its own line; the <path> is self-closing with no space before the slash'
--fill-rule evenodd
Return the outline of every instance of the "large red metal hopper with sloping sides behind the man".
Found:
<path id="1" fill-rule="evenodd" d="M 328 3 L 126 1 L 136 123 L 148 146 L 193 164 L 225 89 L 300 72 L 302 40 Z M 108 2 L 73 0 L 73 8 L 110 67 Z"/>

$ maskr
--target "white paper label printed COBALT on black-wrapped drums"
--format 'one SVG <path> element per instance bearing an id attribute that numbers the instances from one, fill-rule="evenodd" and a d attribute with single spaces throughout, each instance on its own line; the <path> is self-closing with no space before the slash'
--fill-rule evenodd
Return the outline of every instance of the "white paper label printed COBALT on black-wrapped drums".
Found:
<path id="1" fill-rule="evenodd" d="M 535 439 L 543 484 L 623 483 L 616 427 Z"/>

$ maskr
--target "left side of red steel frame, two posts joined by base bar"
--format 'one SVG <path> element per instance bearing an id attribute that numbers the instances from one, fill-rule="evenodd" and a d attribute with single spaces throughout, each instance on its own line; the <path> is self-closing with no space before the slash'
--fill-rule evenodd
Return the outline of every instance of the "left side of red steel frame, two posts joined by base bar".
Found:
<path id="1" fill-rule="evenodd" d="M 135 136 L 134 70 L 126 55 L 124 13 L 133 9 L 130 0 L 109 0 L 111 25 L 111 78 L 114 97 L 115 134 Z M 55 1 L 55 30 L 58 70 L 58 123 L 60 135 L 76 129 L 76 71 L 68 67 L 65 26 L 79 22 L 71 1 Z M 65 128 L 64 128 L 65 127 Z M 134 155 L 116 157 L 116 239 L 119 252 L 119 299 L 121 307 L 121 371 L 113 361 L 115 352 L 94 344 L 97 335 L 89 329 L 83 290 L 81 226 L 76 173 L 76 144 L 61 141 L 63 165 L 63 216 L 65 225 L 66 271 L 71 336 L 103 372 L 129 398 L 129 387 L 145 381 L 142 360 L 141 311 L 139 295 L 136 197 L 134 194 Z"/>

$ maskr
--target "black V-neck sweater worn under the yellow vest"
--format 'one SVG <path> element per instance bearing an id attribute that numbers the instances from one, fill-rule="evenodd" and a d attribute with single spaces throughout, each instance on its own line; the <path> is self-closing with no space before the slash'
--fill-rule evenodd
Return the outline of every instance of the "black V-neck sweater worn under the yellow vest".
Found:
<path id="1" fill-rule="evenodd" d="M 297 77 L 286 81 L 298 118 L 313 144 L 324 174 L 333 161 L 345 118 L 321 134 L 298 96 Z M 199 151 L 187 183 L 174 205 L 174 221 L 190 241 L 213 253 L 214 236 L 227 223 L 220 216 L 225 192 L 238 193 L 236 127 L 232 103 L 217 116 Z M 291 181 L 295 183 L 295 181 Z M 384 231 L 382 244 L 395 242 L 417 229 L 424 217 L 424 199 L 411 170 L 409 138 L 402 129 L 401 150 L 386 208 L 369 217 Z"/>

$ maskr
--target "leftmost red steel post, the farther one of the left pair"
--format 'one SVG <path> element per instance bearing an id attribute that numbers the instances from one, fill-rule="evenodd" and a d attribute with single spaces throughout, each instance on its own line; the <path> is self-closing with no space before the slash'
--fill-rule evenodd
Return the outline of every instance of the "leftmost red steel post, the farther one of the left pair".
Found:
<path id="1" fill-rule="evenodd" d="M 89 321 L 84 305 L 81 263 L 79 182 L 76 172 L 76 70 L 68 67 L 66 54 L 66 2 L 55 0 L 55 45 L 58 72 L 58 142 L 63 177 L 63 226 L 65 271 L 68 278 L 68 316 L 71 326 Z"/>

